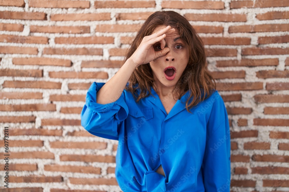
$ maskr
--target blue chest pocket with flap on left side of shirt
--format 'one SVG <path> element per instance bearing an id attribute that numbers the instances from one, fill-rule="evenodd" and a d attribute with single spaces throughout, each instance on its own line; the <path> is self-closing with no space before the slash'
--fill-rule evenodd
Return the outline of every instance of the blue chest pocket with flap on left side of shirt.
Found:
<path id="1" fill-rule="evenodd" d="M 146 149 L 153 143 L 153 108 L 129 109 L 127 118 L 127 145 L 133 149 Z"/>

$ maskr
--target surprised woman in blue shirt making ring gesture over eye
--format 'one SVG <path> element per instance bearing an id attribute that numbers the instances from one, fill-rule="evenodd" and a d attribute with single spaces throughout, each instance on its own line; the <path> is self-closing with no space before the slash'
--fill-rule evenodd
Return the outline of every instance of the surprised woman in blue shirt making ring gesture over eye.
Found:
<path id="1" fill-rule="evenodd" d="M 90 86 L 81 125 L 118 140 L 123 191 L 229 192 L 227 111 L 205 64 L 190 23 L 173 11 L 155 12 L 120 70 Z"/>

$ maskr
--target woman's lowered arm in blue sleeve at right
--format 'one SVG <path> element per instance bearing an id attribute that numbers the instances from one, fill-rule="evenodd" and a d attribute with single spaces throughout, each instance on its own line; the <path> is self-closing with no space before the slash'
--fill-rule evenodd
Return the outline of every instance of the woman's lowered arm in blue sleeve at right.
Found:
<path id="1" fill-rule="evenodd" d="M 207 123 L 203 179 L 207 192 L 229 192 L 231 179 L 230 128 L 223 99 L 215 92 Z"/>

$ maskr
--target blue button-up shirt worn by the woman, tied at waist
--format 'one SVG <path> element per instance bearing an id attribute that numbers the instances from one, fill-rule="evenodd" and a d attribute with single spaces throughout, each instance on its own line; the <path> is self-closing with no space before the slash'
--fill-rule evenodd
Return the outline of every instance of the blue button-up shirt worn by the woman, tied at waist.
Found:
<path id="1" fill-rule="evenodd" d="M 217 90 L 192 113 L 185 108 L 186 92 L 167 114 L 153 89 L 138 103 L 124 90 L 115 102 L 98 104 L 104 84 L 91 84 L 81 125 L 118 140 L 115 176 L 123 191 L 230 191 L 229 121 Z M 165 176 L 155 172 L 160 165 Z"/>

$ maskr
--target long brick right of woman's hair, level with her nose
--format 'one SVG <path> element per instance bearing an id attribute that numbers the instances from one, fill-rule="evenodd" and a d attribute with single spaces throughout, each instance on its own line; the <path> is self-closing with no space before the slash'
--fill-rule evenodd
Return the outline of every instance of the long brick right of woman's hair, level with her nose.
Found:
<path id="1" fill-rule="evenodd" d="M 218 60 L 217 67 L 228 66 L 277 66 L 279 64 L 278 58 L 273 59 L 242 59 L 242 60 Z"/>

